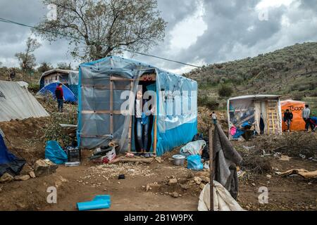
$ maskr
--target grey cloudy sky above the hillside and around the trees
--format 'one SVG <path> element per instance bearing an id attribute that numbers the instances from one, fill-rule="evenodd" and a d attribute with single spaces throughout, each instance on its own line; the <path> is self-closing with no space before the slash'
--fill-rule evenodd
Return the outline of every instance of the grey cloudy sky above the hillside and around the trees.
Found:
<path id="1" fill-rule="evenodd" d="M 220 63 L 317 41 L 316 0 L 158 0 L 158 4 L 168 22 L 166 39 L 149 53 L 184 63 Z M 39 0 L 0 1 L 0 18 L 27 25 L 36 25 L 48 12 Z M 0 23 L 0 62 L 17 66 L 14 55 L 25 49 L 30 34 L 27 27 Z M 66 61 L 77 66 L 66 41 L 41 42 L 35 52 L 38 63 Z M 156 58 L 133 57 L 172 72 L 192 70 Z"/>

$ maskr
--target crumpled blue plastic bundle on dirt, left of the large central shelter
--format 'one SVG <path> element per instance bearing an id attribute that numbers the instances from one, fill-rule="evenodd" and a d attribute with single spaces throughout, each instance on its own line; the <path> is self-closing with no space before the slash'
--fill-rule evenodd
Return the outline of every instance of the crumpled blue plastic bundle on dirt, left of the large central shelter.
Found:
<path id="1" fill-rule="evenodd" d="M 45 158 L 57 165 L 62 165 L 68 161 L 66 152 L 58 145 L 57 141 L 46 142 Z"/>

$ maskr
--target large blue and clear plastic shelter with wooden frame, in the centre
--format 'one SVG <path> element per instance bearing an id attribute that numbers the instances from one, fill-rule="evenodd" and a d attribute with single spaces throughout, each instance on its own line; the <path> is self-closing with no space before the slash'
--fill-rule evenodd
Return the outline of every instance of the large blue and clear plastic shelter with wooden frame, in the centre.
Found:
<path id="1" fill-rule="evenodd" d="M 121 153 L 136 151 L 132 115 L 141 85 L 156 98 L 157 115 L 150 118 L 148 148 L 152 153 L 163 155 L 197 134 L 197 82 L 191 79 L 135 60 L 107 57 L 80 65 L 78 85 L 77 141 L 81 148 L 107 146 L 114 140 Z"/>

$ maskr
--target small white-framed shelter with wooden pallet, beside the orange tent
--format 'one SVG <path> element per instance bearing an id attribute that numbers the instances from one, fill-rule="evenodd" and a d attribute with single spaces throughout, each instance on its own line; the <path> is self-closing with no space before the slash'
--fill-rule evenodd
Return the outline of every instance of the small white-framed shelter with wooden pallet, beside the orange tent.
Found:
<path id="1" fill-rule="evenodd" d="M 282 114 L 280 96 L 254 95 L 240 96 L 228 100 L 229 138 L 239 138 L 244 124 L 253 124 L 260 134 L 261 115 L 264 122 L 264 134 L 282 133 Z"/>

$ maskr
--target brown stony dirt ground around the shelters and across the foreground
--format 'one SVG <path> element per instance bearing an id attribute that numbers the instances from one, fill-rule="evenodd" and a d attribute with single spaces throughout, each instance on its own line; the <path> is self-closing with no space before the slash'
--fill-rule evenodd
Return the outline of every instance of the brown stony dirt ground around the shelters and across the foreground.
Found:
<path id="1" fill-rule="evenodd" d="M 47 120 L 15 120 L 0 123 L 0 127 L 19 153 L 33 163 L 44 158 L 42 131 Z M 225 118 L 223 121 L 225 122 Z M 199 127 L 201 129 L 201 125 Z M 234 145 L 252 146 L 254 143 L 256 140 Z M 9 144 L 8 147 L 15 153 Z M 179 149 L 163 155 L 161 163 L 154 160 L 151 164 L 114 165 L 89 162 L 87 158 L 91 152 L 85 150 L 79 167 L 59 166 L 56 173 L 49 176 L 0 184 L 0 210 L 77 210 L 76 203 L 92 200 L 95 195 L 101 194 L 111 195 L 111 211 L 197 210 L 201 185 L 195 183 L 194 177 L 206 175 L 204 172 L 189 171 L 185 166 L 174 166 L 170 159 Z M 238 203 L 245 210 L 316 211 L 316 180 L 306 180 L 301 176 L 281 177 L 275 172 L 284 172 L 287 169 L 315 171 L 317 162 L 299 157 L 282 161 L 273 155 L 264 158 L 271 163 L 271 170 L 263 173 L 245 171 L 246 174 L 240 178 Z M 25 166 L 22 174 L 28 171 L 30 168 Z M 118 174 L 125 174 L 125 179 L 119 180 Z M 178 179 L 178 184 L 168 185 L 168 181 L 173 178 Z M 206 182 L 208 181 L 202 181 L 201 184 Z M 46 203 L 49 195 L 46 190 L 50 186 L 57 187 L 57 204 Z M 266 205 L 259 204 L 258 200 L 259 188 L 263 186 L 268 188 L 269 199 Z M 177 198 L 172 196 L 175 193 Z"/>

